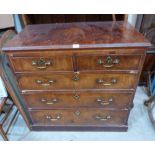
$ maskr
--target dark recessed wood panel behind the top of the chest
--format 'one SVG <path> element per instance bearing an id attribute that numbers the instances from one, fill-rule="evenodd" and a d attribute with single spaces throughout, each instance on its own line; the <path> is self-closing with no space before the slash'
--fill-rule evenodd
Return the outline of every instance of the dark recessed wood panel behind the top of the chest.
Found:
<path id="1" fill-rule="evenodd" d="M 115 14 L 116 20 L 124 20 L 124 14 Z M 27 20 L 32 24 L 72 23 L 112 21 L 112 14 L 27 14 Z"/>

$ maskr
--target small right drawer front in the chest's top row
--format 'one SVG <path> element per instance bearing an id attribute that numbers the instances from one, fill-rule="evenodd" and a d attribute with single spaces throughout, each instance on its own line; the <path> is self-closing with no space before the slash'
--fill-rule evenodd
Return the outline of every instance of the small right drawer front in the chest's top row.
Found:
<path id="1" fill-rule="evenodd" d="M 78 56 L 79 70 L 138 70 L 141 56 L 103 55 Z"/>

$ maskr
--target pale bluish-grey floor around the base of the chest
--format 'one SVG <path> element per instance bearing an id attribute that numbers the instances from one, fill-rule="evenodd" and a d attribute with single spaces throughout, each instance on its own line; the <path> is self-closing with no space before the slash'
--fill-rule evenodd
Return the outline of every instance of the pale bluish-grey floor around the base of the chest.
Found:
<path id="1" fill-rule="evenodd" d="M 23 118 L 19 115 L 8 137 L 12 141 L 109 141 L 109 140 L 155 140 L 153 129 L 143 101 L 148 97 L 143 87 L 138 87 L 134 98 L 134 108 L 129 117 L 128 132 L 32 132 L 27 128 Z M 2 138 L 0 137 L 0 141 Z"/>

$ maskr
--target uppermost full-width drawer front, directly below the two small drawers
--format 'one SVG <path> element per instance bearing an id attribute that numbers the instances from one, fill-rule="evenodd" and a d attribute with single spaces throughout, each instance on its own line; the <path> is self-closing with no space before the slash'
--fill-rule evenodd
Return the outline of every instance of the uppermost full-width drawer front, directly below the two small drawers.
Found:
<path id="1" fill-rule="evenodd" d="M 22 75 L 18 77 L 22 90 L 134 89 L 137 81 L 136 74 Z"/>

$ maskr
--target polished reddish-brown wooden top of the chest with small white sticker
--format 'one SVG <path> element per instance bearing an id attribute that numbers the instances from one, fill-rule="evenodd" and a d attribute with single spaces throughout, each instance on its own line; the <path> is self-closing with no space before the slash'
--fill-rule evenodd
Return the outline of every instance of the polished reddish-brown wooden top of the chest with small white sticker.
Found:
<path id="1" fill-rule="evenodd" d="M 9 41 L 3 50 L 148 46 L 149 41 L 130 24 L 116 21 L 29 25 Z"/>

